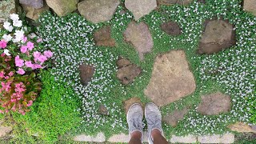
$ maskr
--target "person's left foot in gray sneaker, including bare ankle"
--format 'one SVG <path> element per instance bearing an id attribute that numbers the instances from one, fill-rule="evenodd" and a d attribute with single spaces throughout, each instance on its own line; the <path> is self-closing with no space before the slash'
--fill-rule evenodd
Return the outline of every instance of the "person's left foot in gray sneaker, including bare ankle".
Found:
<path id="1" fill-rule="evenodd" d="M 142 143 L 142 124 L 143 110 L 142 106 L 138 103 L 134 103 L 130 106 L 126 115 L 126 120 L 129 127 L 130 142 L 129 144 L 141 144 Z"/>

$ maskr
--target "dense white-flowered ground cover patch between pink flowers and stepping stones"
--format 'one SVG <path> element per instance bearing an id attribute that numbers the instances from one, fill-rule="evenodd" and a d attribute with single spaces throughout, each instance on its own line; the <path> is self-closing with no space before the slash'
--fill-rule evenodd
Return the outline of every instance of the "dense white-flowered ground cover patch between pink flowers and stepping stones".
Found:
<path id="1" fill-rule="evenodd" d="M 79 111 L 86 130 L 97 131 L 106 123 L 124 128 L 122 118 L 118 117 L 122 110 L 108 98 L 114 86 L 112 77 L 117 70 L 117 57 L 109 50 L 100 50 L 94 46 L 90 37 L 98 26 L 90 26 L 76 14 L 64 18 L 45 14 L 39 22 L 41 27 L 38 28 L 38 34 L 54 51 L 52 74 L 56 81 L 66 82 L 73 88 L 75 94 L 69 97 L 78 95 L 81 99 L 82 108 Z M 94 78 L 87 86 L 83 86 L 80 81 L 78 67 L 81 64 L 94 66 Z M 101 104 L 109 110 L 110 117 L 98 113 Z"/>

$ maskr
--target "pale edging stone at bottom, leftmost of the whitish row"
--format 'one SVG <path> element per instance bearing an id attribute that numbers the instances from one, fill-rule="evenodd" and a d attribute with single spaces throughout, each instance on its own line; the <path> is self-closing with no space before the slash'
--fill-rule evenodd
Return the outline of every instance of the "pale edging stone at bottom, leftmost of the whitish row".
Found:
<path id="1" fill-rule="evenodd" d="M 105 142 L 106 137 L 105 137 L 105 134 L 103 133 L 98 133 L 96 136 L 80 134 L 75 136 L 73 140 L 78 142 Z"/>

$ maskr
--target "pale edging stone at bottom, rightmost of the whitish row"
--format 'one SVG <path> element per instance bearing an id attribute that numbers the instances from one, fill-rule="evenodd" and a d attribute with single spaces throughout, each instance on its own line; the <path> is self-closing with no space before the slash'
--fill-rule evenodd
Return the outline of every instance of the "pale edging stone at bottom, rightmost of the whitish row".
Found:
<path id="1" fill-rule="evenodd" d="M 198 142 L 201 143 L 234 143 L 234 134 L 214 134 L 198 136 Z"/>

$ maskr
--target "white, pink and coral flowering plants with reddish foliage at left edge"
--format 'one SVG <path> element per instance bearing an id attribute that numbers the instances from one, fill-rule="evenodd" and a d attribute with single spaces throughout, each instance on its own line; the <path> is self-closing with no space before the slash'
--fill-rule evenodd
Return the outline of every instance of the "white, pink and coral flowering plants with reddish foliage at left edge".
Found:
<path id="1" fill-rule="evenodd" d="M 10 19 L 0 31 L 0 94 L 5 109 L 1 112 L 13 110 L 25 114 L 40 90 L 34 70 L 46 67 L 53 53 L 44 50 L 41 38 L 27 34 L 28 28 L 22 26 L 18 14 L 10 14 Z"/>

